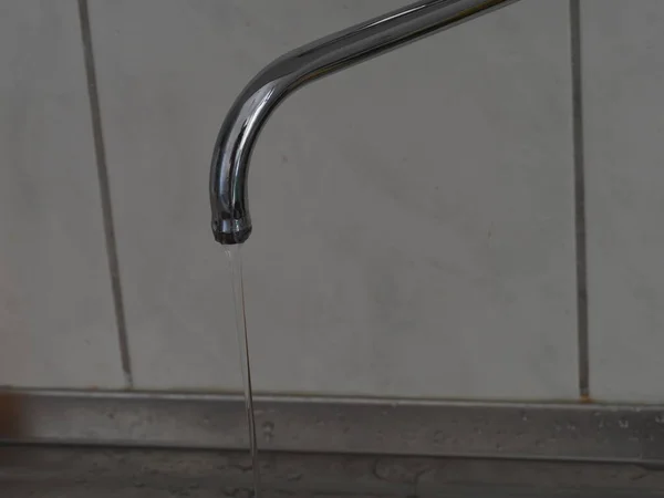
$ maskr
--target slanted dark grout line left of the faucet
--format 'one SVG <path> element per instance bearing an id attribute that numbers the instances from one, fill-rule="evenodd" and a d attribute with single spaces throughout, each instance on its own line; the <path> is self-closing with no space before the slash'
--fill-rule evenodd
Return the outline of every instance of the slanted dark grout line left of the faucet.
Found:
<path id="1" fill-rule="evenodd" d="M 111 273 L 111 286 L 113 290 L 113 303 L 115 308 L 115 321 L 117 325 L 120 356 L 122 361 L 122 370 L 124 373 L 126 387 L 131 388 L 134 385 L 134 381 L 132 377 L 132 361 L 129 356 L 129 344 L 127 339 L 124 302 L 122 298 L 122 286 L 120 282 L 120 263 L 117 258 L 117 245 L 115 241 L 115 229 L 113 224 L 113 208 L 111 206 L 111 187 L 108 185 L 106 149 L 104 147 L 104 135 L 102 132 L 102 115 L 100 110 L 100 96 L 97 92 L 94 53 L 92 50 L 92 32 L 90 28 L 90 13 L 87 10 L 87 0 L 79 0 L 79 18 L 81 21 L 81 39 L 83 42 L 85 75 L 87 77 L 87 95 L 90 97 L 92 134 L 94 137 L 94 153 L 100 181 L 100 194 L 102 198 L 102 215 L 104 218 L 104 234 L 106 237 L 106 255 L 108 257 L 108 271 Z"/>

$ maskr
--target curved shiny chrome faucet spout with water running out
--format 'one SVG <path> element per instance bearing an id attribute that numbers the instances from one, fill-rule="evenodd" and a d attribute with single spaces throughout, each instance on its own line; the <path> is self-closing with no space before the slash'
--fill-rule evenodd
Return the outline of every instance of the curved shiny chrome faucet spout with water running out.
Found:
<path id="1" fill-rule="evenodd" d="M 366 61 L 517 0 L 421 0 L 321 38 L 266 66 L 245 87 L 219 131 L 210 167 L 212 232 L 222 245 L 251 235 L 247 175 L 271 113 L 305 83 Z"/>

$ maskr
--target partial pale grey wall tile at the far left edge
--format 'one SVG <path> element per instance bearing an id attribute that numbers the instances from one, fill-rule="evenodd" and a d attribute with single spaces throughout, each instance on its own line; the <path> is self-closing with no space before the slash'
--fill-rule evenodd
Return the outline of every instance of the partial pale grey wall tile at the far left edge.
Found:
<path id="1" fill-rule="evenodd" d="M 75 1 L 0 3 L 0 384 L 122 387 Z"/>

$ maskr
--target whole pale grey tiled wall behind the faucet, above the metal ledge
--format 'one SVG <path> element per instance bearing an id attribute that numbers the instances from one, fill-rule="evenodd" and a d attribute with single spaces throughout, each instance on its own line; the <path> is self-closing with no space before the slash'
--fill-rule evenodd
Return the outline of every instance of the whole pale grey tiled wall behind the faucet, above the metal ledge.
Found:
<path id="1" fill-rule="evenodd" d="M 79 2 L 1 2 L 0 384 L 238 390 L 207 196 L 224 114 L 274 56 L 404 3 L 89 0 L 100 190 Z M 581 357 L 591 396 L 662 401 L 664 4 L 639 4 L 581 0 L 572 56 L 570 2 L 523 0 L 279 108 L 243 248 L 257 390 L 577 400 Z"/>

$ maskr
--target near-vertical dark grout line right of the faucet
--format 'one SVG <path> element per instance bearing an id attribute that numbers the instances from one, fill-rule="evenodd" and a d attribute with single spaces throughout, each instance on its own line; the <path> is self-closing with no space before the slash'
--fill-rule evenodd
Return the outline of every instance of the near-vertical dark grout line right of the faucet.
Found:
<path id="1" fill-rule="evenodd" d="M 577 328 L 579 341 L 579 393 L 590 398 L 588 339 L 588 249 L 585 240 L 585 163 L 583 148 L 583 80 L 581 65 L 581 1 L 570 0 L 572 70 L 572 133 L 574 149 L 574 225 L 577 249 Z"/>

